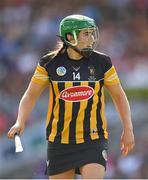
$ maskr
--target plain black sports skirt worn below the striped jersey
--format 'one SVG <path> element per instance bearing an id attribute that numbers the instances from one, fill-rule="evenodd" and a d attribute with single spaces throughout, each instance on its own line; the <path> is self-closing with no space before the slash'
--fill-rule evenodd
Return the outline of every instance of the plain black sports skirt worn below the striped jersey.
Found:
<path id="1" fill-rule="evenodd" d="M 48 142 L 47 168 L 48 176 L 70 169 L 80 173 L 79 168 L 85 164 L 98 163 L 105 167 L 107 163 L 108 141 L 97 139 L 82 144 L 54 144 Z"/>

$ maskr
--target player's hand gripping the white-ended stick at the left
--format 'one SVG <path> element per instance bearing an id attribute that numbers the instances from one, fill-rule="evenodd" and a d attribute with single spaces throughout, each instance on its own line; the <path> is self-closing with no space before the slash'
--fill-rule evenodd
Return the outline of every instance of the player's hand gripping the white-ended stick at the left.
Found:
<path id="1" fill-rule="evenodd" d="M 16 122 L 8 131 L 8 134 L 7 134 L 8 138 L 13 139 L 16 133 L 22 134 L 24 131 L 24 128 L 25 128 L 24 124 L 20 124 L 20 123 Z"/>

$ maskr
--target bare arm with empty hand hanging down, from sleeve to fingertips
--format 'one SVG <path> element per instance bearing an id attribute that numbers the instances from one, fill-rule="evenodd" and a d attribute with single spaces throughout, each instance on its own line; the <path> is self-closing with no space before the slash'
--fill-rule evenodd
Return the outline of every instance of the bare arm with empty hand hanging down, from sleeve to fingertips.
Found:
<path id="1" fill-rule="evenodd" d="M 135 145 L 129 102 L 120 83 L 113 86 L 106 86 L 106 88 L 109 90 L 122 121 L 121 151 L 122 155 L 126 156 Z"/>

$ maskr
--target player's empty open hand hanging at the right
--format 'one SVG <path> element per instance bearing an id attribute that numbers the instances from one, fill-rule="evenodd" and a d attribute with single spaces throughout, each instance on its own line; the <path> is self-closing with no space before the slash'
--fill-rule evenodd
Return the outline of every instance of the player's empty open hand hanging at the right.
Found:
<path id="1" fill-rule="evenodd" d="M 121 153 L 127 156 L 128 153 L 134 148 L 135 139 L 132 129 L 124 129 L 121 135 Z"/>

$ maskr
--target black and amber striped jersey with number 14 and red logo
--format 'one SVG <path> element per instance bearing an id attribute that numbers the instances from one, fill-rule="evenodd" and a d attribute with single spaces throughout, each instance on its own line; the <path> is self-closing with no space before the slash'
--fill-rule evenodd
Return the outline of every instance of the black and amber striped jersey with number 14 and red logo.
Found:
<path id="1" fill-rule="evenodd" d="M 49 86 L 47 139 L 57 143 L 83 143 L 108 138 L 104 85 L 119 83 L 108 56 L 93 52 L 72 60 L 68 54 L 44 56 L 32 81 Z"/>

